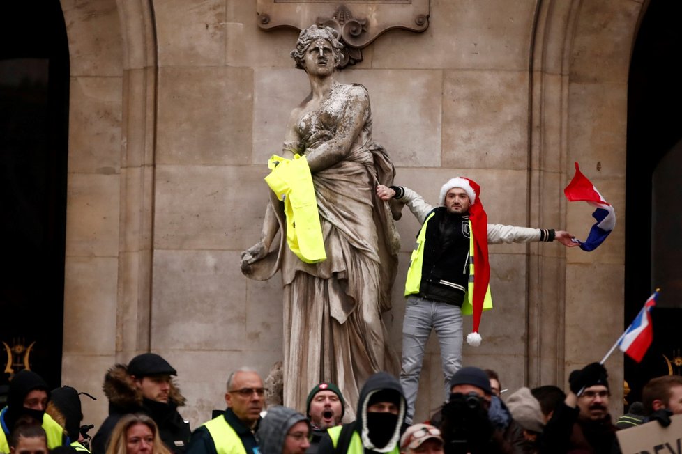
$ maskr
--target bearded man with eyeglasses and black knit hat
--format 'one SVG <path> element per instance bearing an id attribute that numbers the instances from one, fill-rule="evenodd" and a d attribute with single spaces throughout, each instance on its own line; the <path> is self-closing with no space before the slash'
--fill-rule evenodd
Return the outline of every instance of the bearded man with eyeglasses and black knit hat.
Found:
<path id="1" fill-rule="evenodd" d="M 608 377 L 600 363 L 591 363 L 570 373 L 570 391 L 545 425 L 540 452 L 620 452 L 616 451 L 619 449 L 616 426 L 608 408 L 611 396 Z"/>

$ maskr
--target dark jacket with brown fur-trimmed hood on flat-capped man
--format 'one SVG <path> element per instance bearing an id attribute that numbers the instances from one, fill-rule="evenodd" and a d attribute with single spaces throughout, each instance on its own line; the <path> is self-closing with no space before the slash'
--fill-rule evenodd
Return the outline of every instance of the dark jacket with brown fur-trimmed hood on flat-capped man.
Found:
<path id="1" fill-rule="evenodd" d="M 171 380 L 168 403 L 156 402 L 142 396 L 124 364 L 116 364 L 104 377 L 103 390 L 109 399 L 109 416 L 92 439 L 92 454 L 105 454 L 114 426 L 123 415 L 144 413 L 159 428 L 161 441 L 172 453 L 185 453 L 192 432 L 177 408 L 185 405 L 185 398 Z"/>

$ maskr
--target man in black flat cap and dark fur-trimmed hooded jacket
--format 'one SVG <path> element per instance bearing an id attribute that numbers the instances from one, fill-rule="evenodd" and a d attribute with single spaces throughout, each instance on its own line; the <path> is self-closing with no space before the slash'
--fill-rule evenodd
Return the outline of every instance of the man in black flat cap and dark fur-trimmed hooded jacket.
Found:
<path id="1" fill-rule="evenodd" d="M 169 451 L 185 453 L 192 432 L 177 410 L 185 405 L 185 398 L 171 375 L 177 375 L 176 370 L 155 353 L 139 354 L 128 366 L 116 364 L 109 369 L 103 386 L 109 416 L 92 439 L 92 453 L 105 454 L 114 426 L 130 413 L 150 416 Z"/>

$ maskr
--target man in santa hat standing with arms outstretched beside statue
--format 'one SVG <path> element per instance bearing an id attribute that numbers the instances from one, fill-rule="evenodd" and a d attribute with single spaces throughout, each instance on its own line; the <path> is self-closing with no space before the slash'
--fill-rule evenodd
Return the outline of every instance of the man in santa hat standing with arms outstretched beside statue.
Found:
<path id="1" fill-rule="evenodd" d="M 557 240 L 573 247 L 578 243 L 562 230 L 488 224 L 480 186 L 469 178 L 446 182 L 437 208 L 406 187 L 379 185 L 377 195 L 384 201 L 395 198 L 407 204 L 422 224 L 407 272 L 402 327 L 400 384 L 407 398 L 407 423 L 411 423 L 431 330 L 436 330 L 441 345 L 446 400 L 450 379 L 462 367 L 462 313 L 473 313 L 473 333 L 467 342 L 480 344 L 480 315 L 484 308 L 492 308 L 488 244 Z"/>

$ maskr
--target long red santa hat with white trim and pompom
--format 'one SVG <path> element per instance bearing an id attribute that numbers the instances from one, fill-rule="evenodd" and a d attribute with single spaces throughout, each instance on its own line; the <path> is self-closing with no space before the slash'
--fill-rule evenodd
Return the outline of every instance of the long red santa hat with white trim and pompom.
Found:
<path id="1" fill-rule="evenodd" d="M 480 345 L 480 315 L 483 313 L 483 300 L 490 283 L 490 262 L 488 261 L 488 217 L 483 210 L 483 203 L 480 200 L 480 186 L 470 178 L 452 178 L 441 187 L 441 205 L 445 205 L 445 196 L 450 189 L 458 187 L 464 189 L 469 196 L 469 220 L 471 230 L 473 230 L 473 295 L 471 305 L 473 306 L 473 332 L 467 335 L 467 343 L 478 347 Z"/>

